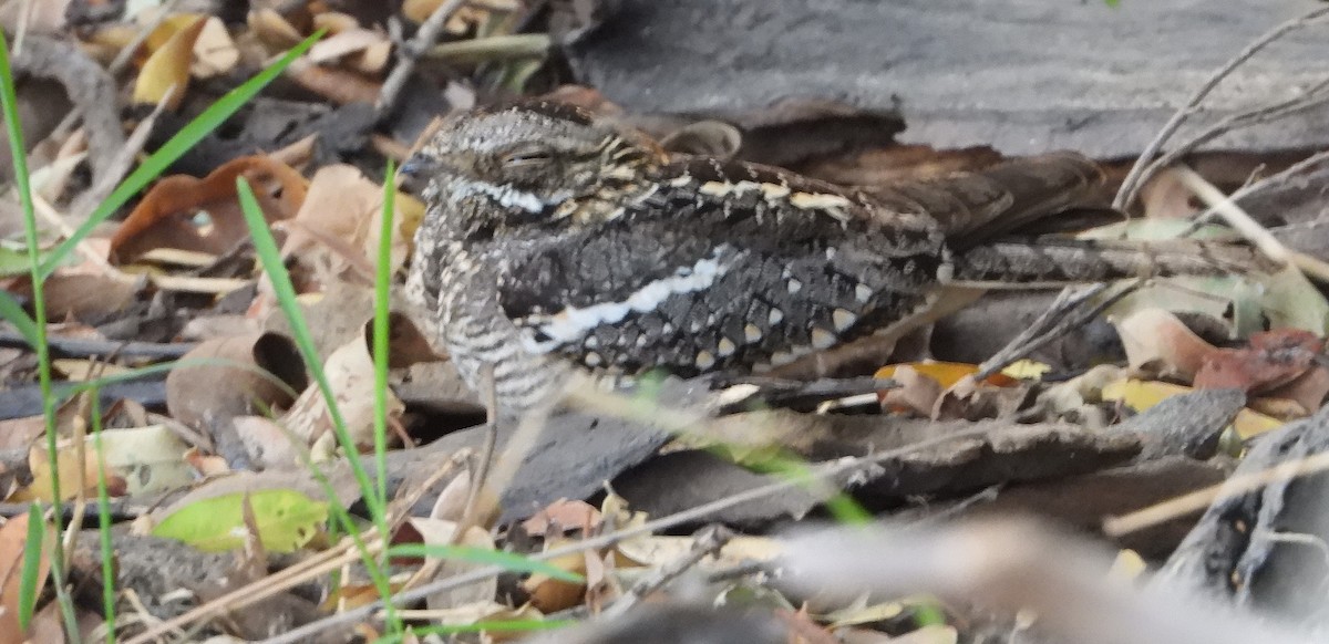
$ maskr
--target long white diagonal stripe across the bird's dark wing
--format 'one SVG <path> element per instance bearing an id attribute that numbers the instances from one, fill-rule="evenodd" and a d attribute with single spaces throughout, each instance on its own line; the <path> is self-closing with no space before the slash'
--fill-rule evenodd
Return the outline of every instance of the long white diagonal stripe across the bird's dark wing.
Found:
<path id="1" fill-rule="evenodd" d="M 567 307 L 553 315 L 532 315 L 524 321 L 534 327 L 545 340 L 536 340 L 532 333 L 522 333 L 528 351 L 548 353 L 554 348 L 586 337 L 586 333 L 602 324 L 618 324 L 631 312 L 654 311 L 671 295 L 694 293 L 710 288 L 724 275 L 730 263 L 720 260 L 731 247 L 716 246 L 708 258 L 696 260 L 690 267 L 674 271 L 668 278 L 643 284 L 622 301 L 601 301 L 586 307 Z"/>

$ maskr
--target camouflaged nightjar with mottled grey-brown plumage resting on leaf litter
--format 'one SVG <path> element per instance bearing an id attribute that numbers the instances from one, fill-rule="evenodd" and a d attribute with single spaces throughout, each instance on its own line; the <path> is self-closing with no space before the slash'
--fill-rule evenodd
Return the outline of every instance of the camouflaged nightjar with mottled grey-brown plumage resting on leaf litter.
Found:
<path id="1" fill-rule="evenodd" d="M 452 116 L 401 169 L 427 214 L 408 297 L 498 408 L 567 369 L 760 373 L 881 332 L 957 282 L 1211 272 L 1223 258 L 985 243 L 1102 182 L 1074 154 L 865 193 L 775 167 L 666 154 L 546 104 Z"/>

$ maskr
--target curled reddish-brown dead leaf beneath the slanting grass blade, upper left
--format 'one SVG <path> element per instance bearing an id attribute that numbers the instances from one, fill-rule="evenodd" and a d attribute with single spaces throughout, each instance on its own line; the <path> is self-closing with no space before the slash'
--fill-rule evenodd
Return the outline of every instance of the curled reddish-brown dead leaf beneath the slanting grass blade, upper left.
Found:
<path id="1" fill-rule="evenodd" d="M 112 256 L 132 262 L 153 248 L 181 248 L 222 254 L 249 238 L 249 227 L 235 201 L 235 178 L 254 187 L 268 222 L 288 219 L 304 202 L 299 173 L 268 157 L 242 157 L 213 170 L 203 179 L 167 177 L 144 197 L 110 239 Z M 206 223 L 195 212 L 207 214 Z"/>

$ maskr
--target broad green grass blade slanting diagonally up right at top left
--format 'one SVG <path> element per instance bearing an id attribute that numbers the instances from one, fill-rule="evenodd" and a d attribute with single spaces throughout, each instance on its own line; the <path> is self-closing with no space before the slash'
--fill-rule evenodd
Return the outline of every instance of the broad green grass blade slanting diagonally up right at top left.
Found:
<path id="1" fill-rule="evenodd" d="M 157 149 L 146 161 L 142 162 L 129 177 L 125 178 L 110 193 L 109 197 L 96 210 L 88 216 L 88 220 L 82 223 L 68 239 L 60 243 L 47 262 L 41 267 L 41 279 L 45 279 L 56 267 L 60 260 L 73 252 L 74 246 L 82 242 L 92 231 L 113 215 L 121 206 L 129 202 L 140 190 L 144 189 L 149 182 L 159 177 L 171 163 L 185 155 L 191 147 L 198 145 L 207 134 L 215 130 L 219 125 L 226 122 L 227 118 L 235 114 L 245 104 L 250 102 L 267 84 L 272 82 L 282 72 L 286 70 L 291 62 L 296 58 L 304 56 L 314 42 L 318 42 L 323 37 L 323 31 L 315 32 L 312 36 L 304 39 L 299 45 L 291 48 L 284 56 L 278 58 L 276 62 L 268 65 L 262 72 L 255 74 L 249 81 L 245 81 L 241 86 L 230 90 L 226 96 L 221 97 L 210 105 L 202 114 L 190 121 L 182 130 L 175 133 L 166 143 Z"/>

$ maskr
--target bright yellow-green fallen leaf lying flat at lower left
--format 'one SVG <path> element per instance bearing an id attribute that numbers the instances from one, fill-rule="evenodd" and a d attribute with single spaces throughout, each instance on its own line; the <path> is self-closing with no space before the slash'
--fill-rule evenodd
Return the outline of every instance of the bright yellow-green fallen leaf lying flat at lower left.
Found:
<path id="1" fill-rule="evenodd" d="M 263 547 L 292 552 L 304 546 L 327 522 L 328 505 L 295 490 L 262 490 L 249 494 Z M 245 544 L 247 528 L 243 493 L 190 503 L 162 519 L 153 536 L 185 542 L 205 552 L 222 552 Z"/>

